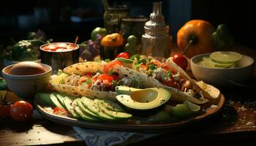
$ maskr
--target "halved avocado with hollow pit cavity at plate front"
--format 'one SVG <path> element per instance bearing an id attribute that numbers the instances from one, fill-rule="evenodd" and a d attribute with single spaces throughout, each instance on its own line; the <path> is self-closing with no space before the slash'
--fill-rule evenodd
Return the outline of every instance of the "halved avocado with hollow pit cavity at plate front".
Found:
<path id="1" fill-rule="evenodd" d="M 128 109 L 143 111 L 162 107 L 170 96 L 170 91 L 165 88 L 146 88 L 132 91 L 130 95 L 118 95 L 116 99 Z"/>

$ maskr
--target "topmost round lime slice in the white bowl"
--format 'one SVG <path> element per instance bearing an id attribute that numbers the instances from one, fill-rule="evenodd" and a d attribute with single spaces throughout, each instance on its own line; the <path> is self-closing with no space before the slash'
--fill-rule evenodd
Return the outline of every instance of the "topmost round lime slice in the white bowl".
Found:
<path id="1" fill-rule="evenodd" d="M 218 51 L 211 53 L 211 60 L 220 64 L 235 64 L 240 61 L 243 55 L 231 51 Z"/>

